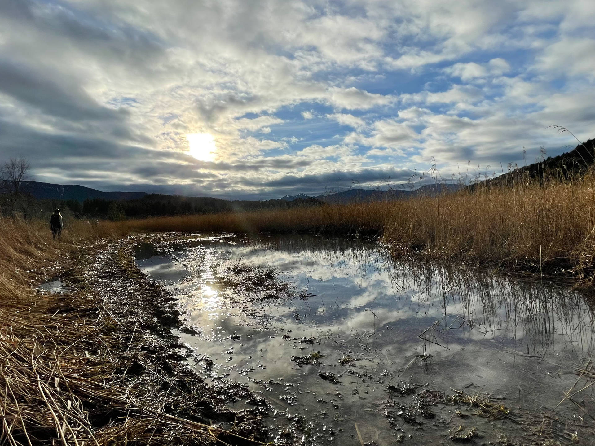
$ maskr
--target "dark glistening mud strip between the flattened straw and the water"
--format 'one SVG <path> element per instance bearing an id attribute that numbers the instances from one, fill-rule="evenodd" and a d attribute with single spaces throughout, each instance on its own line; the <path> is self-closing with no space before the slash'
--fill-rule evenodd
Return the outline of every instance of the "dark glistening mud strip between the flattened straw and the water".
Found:
<path id="1" fill-rule="evenodd" d="M 212 440 L 229 444 L 264 441 L 266 430 L 258 413 L 226 408 L 238 394 L 245 397 L 248 391 L 231 383 L 221 383 L 217 388 L 206 385 L 187 367 L 184 360 L 191 352 L 171 330 L 193 331 L 181 321 L 176 299 L 146 279 L 133 259 L 133 240 L 129 239 L 97 250 L 84 271 L 86 285 L 101 293 L 105 308 L 121 330 L 124 343 L 119 350 L 124 354 L 117 372 L 123 383 L 138 391 L 143 406 L 227 431 L 212 435 Z M 179 435 L 177 444 L 192 443 L 187 438 L 189 433 Z M 174 438 L 168 441 L 171 444 Z"/>

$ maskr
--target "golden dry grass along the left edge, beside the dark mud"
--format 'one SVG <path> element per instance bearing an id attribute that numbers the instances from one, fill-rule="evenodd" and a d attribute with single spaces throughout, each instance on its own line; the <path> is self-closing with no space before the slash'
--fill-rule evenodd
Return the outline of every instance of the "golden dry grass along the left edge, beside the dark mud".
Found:
<path id="1" fill-rule="evenodd" d="M 121 234 L 114 225 L 73 222 L 62 243 L 56 243 L 47 225 L 12 218 L 0 218 L 0 231 L 0 444 L 49 442 L 51 426 L 61 444 L 76 444 L 72 426 L 85 434 L 89 431 L 83 404 L 80 398 L 59 392 L 64 382 L 69 388 L 78 387 L 64 373 L 72 372 L 81 381 L 86 373 L 71 353 L 62 354 L 77 341 L 79 348 L 97 343 L 101 323 L 86 325 L 80 315 L 58 315 L 64 309 L 61 298 L 36 295 L 33 288 L 61 271 L 82 243 Z M 84 308 L 80 299 L 76 304 Z"/>

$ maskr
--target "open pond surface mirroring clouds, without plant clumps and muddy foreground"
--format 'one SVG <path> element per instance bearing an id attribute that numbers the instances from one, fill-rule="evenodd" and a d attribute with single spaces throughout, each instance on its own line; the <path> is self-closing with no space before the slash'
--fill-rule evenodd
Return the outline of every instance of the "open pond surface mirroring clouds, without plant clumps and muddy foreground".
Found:
<path id="1" fill-rule="evenodd" d="M 322 424 L 331 414 L 330 425 L 350 432 L 340 444 L 359 444 L 351 432 L 355 421 L 364 438 L 394 440 L 378 407 L 386 386 L 402 379 L 439 390 L 483 390 L 531 412 L 551 408 L 574 384 L 571 366 L 595 345 L 593 310 L 580 294 L 394 262 L 374 244 L 193 236 L 143 252 L 156 255 L 137 259 L 140 268 L 175 291 L 189 323 L 202 329 L 199 337 L 182 335 L 215 362 L 212 369 L 198 363 L 198 370 L 240 379 L 278 409 L 317 413 Z M 310 297 L 235 299 L 217 277 L 222 265 L 239 259 L 277 268 L 296 294 Z M 320 365 L 292 361 L 317 351 L 324 355 Z M 321 371 L 340 384 L 321 379 Z M 427 440 L 430 434 L 411 435 Z"/>

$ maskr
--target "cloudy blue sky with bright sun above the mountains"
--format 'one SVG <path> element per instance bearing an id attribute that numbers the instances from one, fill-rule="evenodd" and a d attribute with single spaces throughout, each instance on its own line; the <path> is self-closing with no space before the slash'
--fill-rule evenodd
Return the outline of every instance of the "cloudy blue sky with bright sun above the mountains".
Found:
<path id="1" fill-rule="evenodd" d="M 594 24 L 594 0 L 0 0 L 0 160 L 234 199 L 475 181 L 577 145 L 550 125 L 595 137 Z"/>

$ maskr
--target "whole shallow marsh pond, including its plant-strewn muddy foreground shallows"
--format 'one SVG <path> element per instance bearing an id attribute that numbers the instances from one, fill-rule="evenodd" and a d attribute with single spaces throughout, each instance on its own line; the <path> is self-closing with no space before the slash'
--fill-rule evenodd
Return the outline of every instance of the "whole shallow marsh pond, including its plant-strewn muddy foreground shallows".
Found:
<path id="1" fill-rule="evenodd" d="M 279 444 L 593 444 L 595 316 L 568 288 L 303 235 L 163 235 L 137 265 Z"/>

